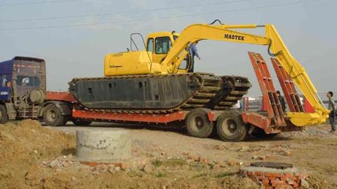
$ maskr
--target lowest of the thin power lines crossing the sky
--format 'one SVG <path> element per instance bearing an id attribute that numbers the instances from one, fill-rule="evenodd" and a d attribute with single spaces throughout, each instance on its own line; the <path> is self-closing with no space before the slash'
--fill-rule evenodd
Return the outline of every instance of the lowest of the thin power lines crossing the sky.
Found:
<path id="1" fill-rule="evenodd" d="M 141 21 L 149 21 L 149 20 L 166 20 L 166 19 L 171 19 L 171 18 L 185 18 L 185 17 L 193 17 L 193 16 L 198 16 L 198 15 L 211 15 L 214 13 L 232 13 L 232 12 L 246 11 L 246 10 L 277 8 L 281 6 L 291 6 L 291 5 L 302 4 L 302 3 L 311 3 L 314 1 L 323 1 L 323 0 L 295 1 L 291 3 L 279 3 L 279 4 L 272 4 L 272 5 L 267 5 L 267 6 L 257 6 L 254 8 L 238 8 L 238 9 L 232 9 L 232 10 L 219 10 L 219 11 L 213 11 L 213 12 L 176 15 L 176 16 L 161 17 L 161 18 L 154 18 L 154 19 L 126 20 L 126 21 L 116 21 L 116 22 L 98 22 L 98 23 L 89 23 L 89 24 L 57 25 L 57 26 L 46 26 L 46 27 L 42 26 L 42 27 L 4 28 L 4 29 L 0 29 L 0 31 L 10 31 L 10 30 L 13 31 L 13 30 L 22 30 L 22 29 L 55 29 L 55 28 L 67 28 L 67 27 L 88 27 L 88 26 L 98 26 L 98 25 L 112 25 L 112 24 L 130 23 L 130 22 L 141 22 Z"/>

